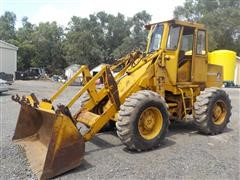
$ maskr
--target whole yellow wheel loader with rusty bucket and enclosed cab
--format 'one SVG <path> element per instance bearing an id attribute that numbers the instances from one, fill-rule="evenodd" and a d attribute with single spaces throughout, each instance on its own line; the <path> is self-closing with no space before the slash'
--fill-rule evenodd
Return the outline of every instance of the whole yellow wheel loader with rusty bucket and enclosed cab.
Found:
<path id="1" fill-rule="evenodd" d="M 231 102 L 220 89 L 222 66 L 208 63 L 204 25 L 170 20 L 146 29 L 146 52 L 131 52 L 94 76 L 82 66 L 49 99 L 39 101 L 34 94 L 13 97 L 21 104 L 13 140 L 24 147 L 41 179 L 79 166 L 85 142 L 109 122 L 116 122 L 119 138 L 135 151 L 159 146 L 170 121 L 192 121 L 204 134 L 224 130 Z M 54 106 L 80 74 L 83 87 L 68 104 Z M 88 98 L 72 114 L 72 105 L 86 93 Z"/>

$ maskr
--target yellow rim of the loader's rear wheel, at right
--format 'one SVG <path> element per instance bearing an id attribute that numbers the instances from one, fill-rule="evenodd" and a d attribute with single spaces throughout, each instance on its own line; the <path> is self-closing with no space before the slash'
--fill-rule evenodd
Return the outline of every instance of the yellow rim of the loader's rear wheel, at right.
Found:
<path id="1" fill-rule="evenodd" d="M 212 120 L 216 125 L 221 125 L 227 115 L 227 107 L 224 101 L 218 100 L 213 106 Z"/>

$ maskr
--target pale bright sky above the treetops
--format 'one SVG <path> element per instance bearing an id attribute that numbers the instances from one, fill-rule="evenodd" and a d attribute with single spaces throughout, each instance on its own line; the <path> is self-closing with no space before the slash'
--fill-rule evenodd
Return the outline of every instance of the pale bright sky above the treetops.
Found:
<path id="1" fill-rule="evenodd" d="M 117 15 L 118 12 L 131 17 L 146 10 L 152 15 L 152 22 L 173 18 L 173 10 L 184 0 L 0 0 L 0 15 L 5 11 L 17 16 L 16 27 L 21 27 L 21 19 L 29 18 L 33 24 L 56 21 L 67 26 L 72 16 L 88 17 L 99 11 Z"/>

